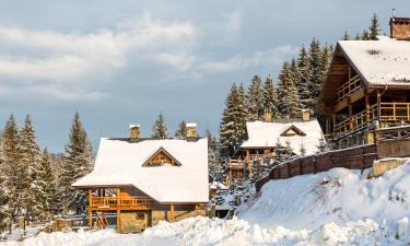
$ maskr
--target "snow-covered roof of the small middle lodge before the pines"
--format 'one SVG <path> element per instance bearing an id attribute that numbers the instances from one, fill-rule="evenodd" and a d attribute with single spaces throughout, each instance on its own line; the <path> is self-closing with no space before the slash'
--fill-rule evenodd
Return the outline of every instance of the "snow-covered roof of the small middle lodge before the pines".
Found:
<path id="1" fill-rule="evenodd" d="M 306 136 L 281 136 L 292 126 L 306 133 Z M 315 153 L 319 145 L 319 140 L 324 136 L 319 122 L 316 119 L 293 122 L 253 121 L 246 122 L 246 129 L 248 140 L 245 140 L 241 148 L 273 148 L 278 143 L 278 140 L 282 145 L 285 145 L 286 141 L 289 141 L 295 154 L 301 154 L 302 144 L 306 149 L 306 154 Z"/>

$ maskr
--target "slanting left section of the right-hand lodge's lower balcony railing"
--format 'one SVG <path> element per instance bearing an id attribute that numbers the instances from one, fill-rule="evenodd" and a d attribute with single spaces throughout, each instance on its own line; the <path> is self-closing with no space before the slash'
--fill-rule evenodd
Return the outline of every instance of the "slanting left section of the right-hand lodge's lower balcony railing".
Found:
<path id="1" fill-rule="evenodd" d="M 354 131 L 359 128 L 367 126 L 370 122 L 374 121 L 377 118 L 377 104 L 372 105 L 367 109 L 360 112 L 359 114 L 353 115 L 350 118 L 344 119 L 341 122 L 335 125 L 335 138 L 342 137 L 343 134 Z"/>

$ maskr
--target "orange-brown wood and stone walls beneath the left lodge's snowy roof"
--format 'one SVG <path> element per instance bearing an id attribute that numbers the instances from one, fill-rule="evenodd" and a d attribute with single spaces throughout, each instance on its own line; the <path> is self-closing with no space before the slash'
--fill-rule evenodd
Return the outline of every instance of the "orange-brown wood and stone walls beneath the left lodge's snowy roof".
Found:
<path id="1" fill-rule="evenodd" d="M 85 188 L 85 187 L 84 187 Z M 105 214 L 116 213 L 118 233 L 136 233 L 155 225 L 161 220 L 178 221 L 188 216 L 206 215 L 206 203 L 161 203 L 132 186 L 87 187 L 89 226 L 104 229 Z M 93 221 L 93 214 L 96 214 Z"/>

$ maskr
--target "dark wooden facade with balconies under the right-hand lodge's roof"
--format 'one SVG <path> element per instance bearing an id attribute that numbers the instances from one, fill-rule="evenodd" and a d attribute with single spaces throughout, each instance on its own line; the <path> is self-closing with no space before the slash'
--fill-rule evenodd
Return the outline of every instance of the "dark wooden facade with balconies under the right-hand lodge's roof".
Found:
<path id="1" fill-rule="evenodd" d="M 377 56 L 382 50 L 367 52 Z M 338 44 L 319 113 L 331 126 L 325 133 L 332 136 L 336 148 L 373 144 L 378 141 L 378 129 L 410 124 L 410 83 L 370 83 Z"/>

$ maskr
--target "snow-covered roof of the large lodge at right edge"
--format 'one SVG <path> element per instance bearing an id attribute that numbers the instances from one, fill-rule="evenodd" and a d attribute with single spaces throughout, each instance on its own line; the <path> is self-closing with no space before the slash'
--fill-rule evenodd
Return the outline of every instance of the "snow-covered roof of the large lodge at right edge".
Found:
<path id="1" fill-rule="evenodd" d="M 338 44 L 368 84 L 410 85 L 409 42 L 382 38 Z"/>

